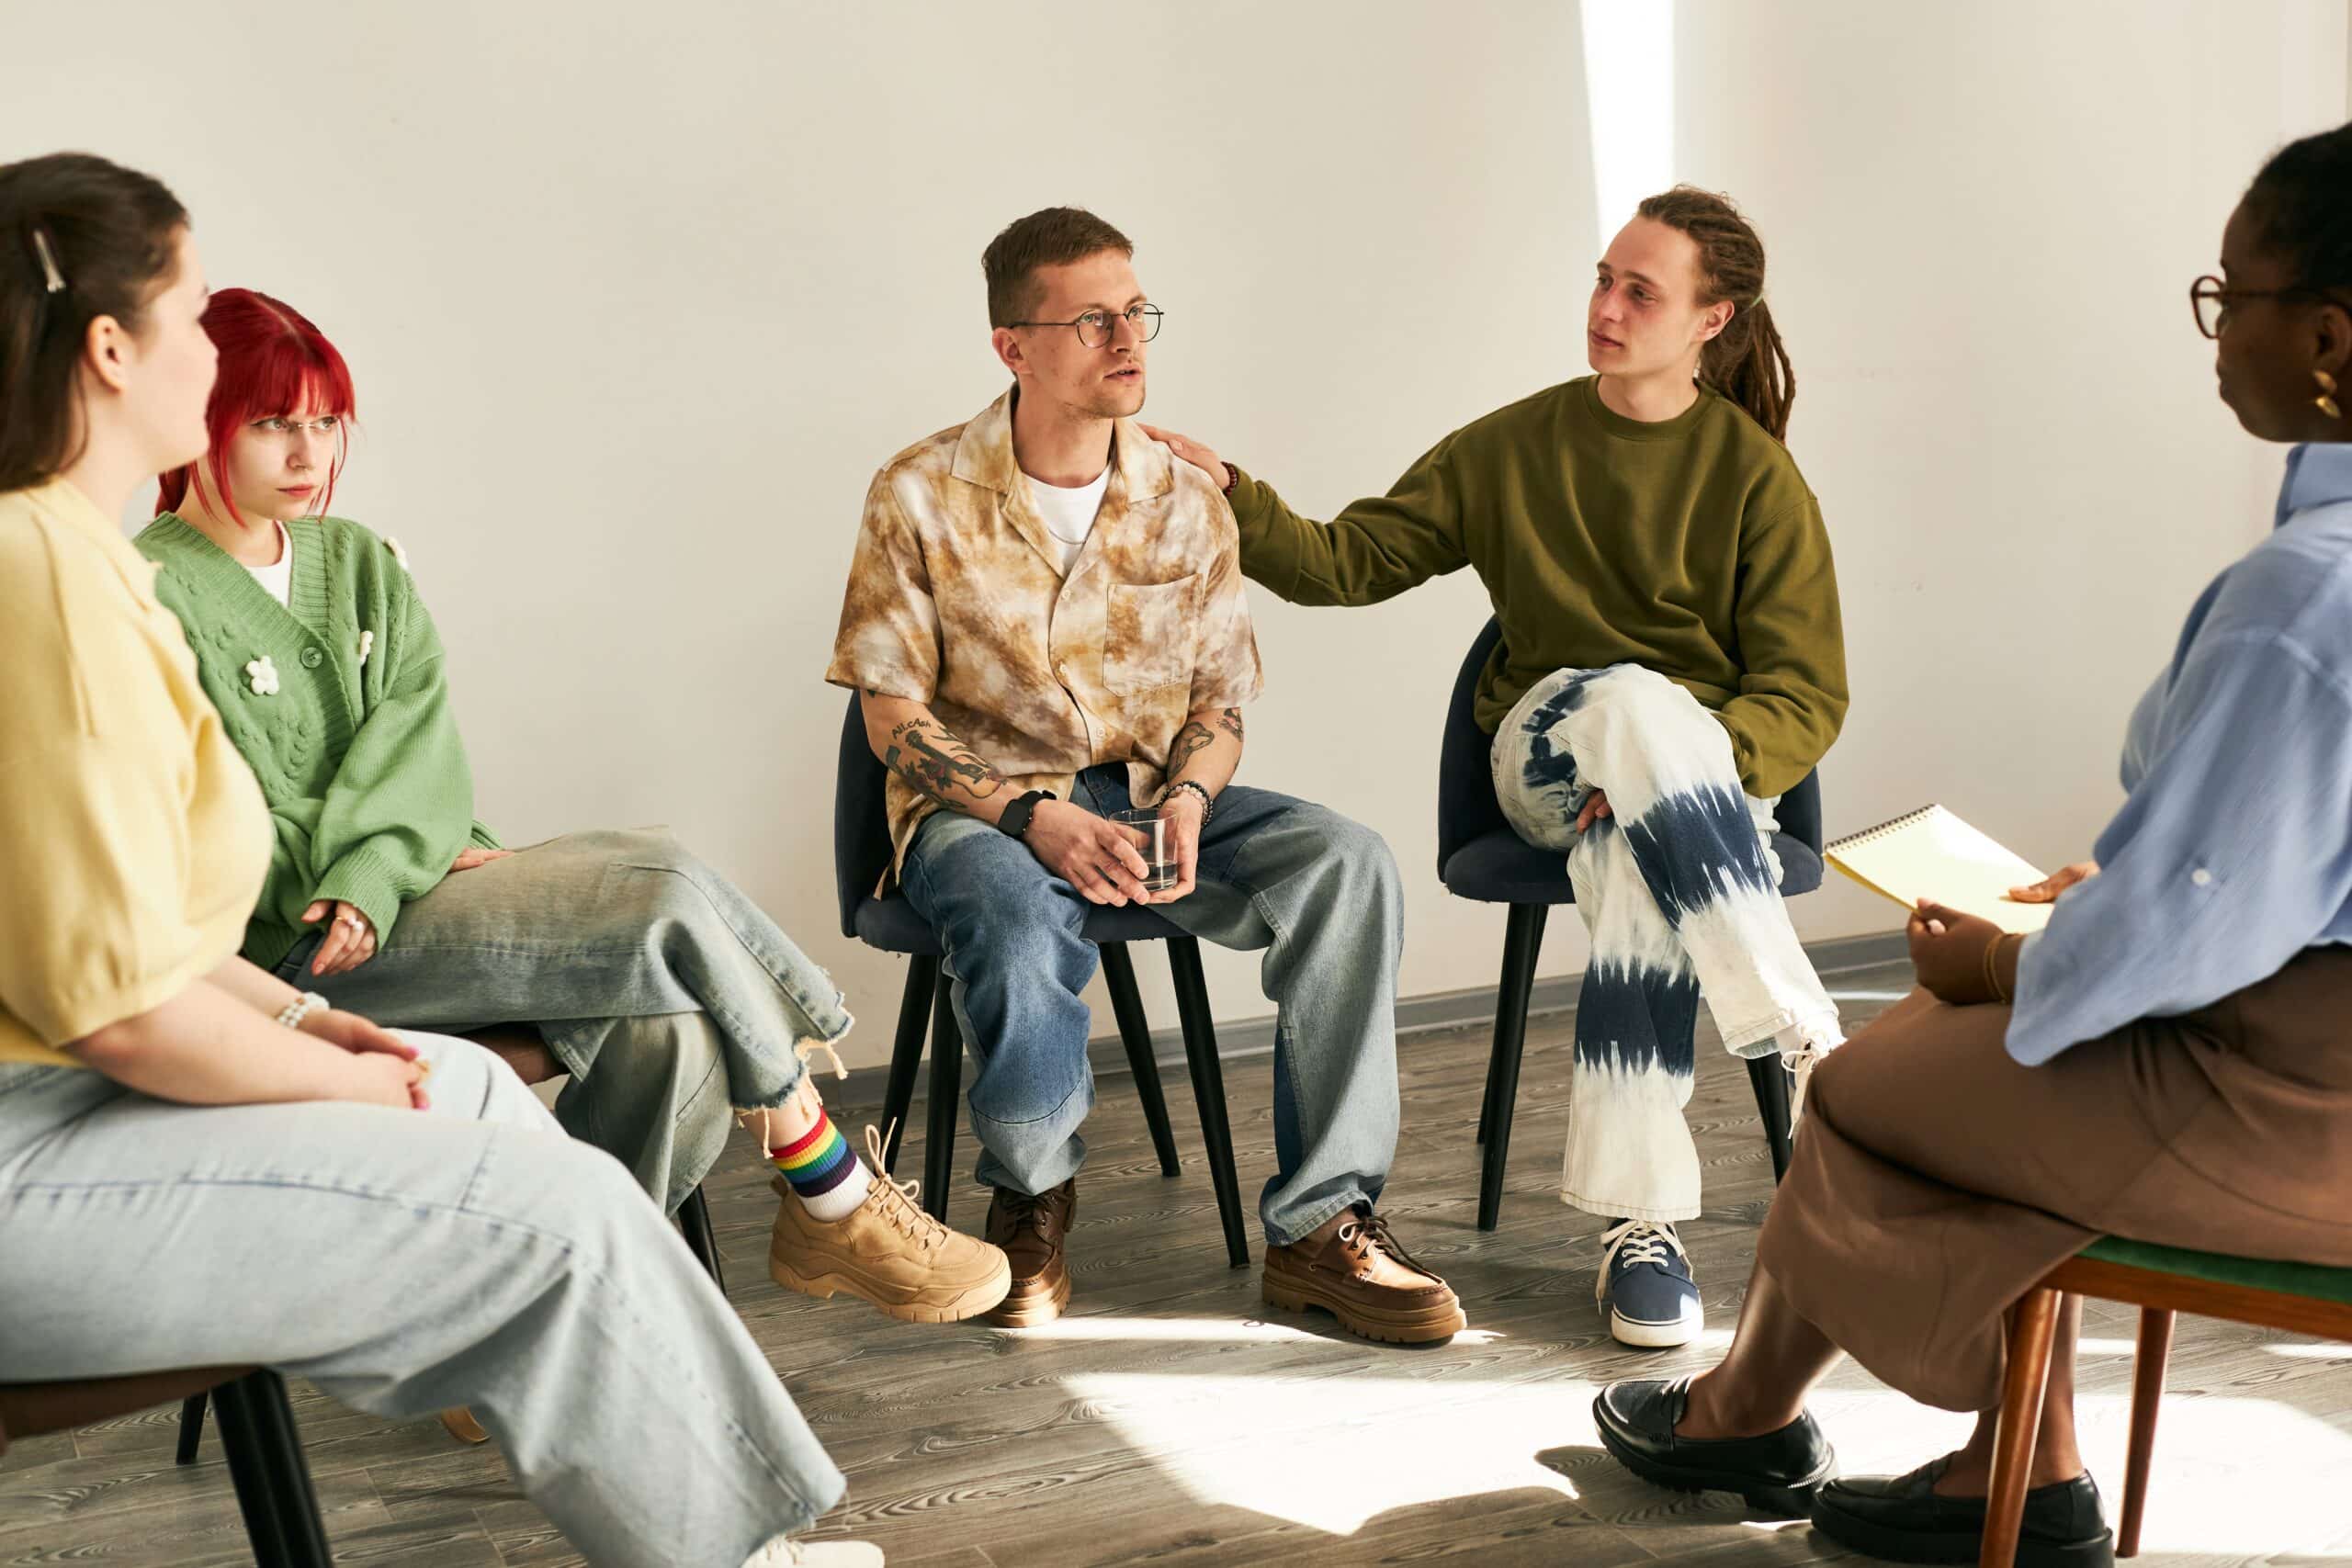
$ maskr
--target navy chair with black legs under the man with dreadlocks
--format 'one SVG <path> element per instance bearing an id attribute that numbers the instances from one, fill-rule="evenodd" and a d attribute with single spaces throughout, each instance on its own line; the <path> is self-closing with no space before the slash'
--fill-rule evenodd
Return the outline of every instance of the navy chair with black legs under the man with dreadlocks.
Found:
<path id="1" fill-rule="evenodd" d="M 1510 905 L 1503 936 L 1503 983 L 1494 1001 L 1494 1056 L 1486 1063 L 1486 1100 L 1479 1107 L 1477 1135 L 1484 1145 L 1484 1171 L 1477 1192 L 1477 1225 L 1494 1229 L 1503 1211 L 1503 1161 L 1510 1154 L 1510 1112 L 1519 1095 L 1519 1053 L 1526 1048 L 1526 1001 L 1536 985 L 1536 952 L 1552 905 L 1576 903 L 1569 886 L 1566 856 L 1536 849 L 1503 818 L 1494 797 L 1494 738 L 1477 726 L 1472 703 L 1486 656 L 1503 639 L 1503 625 L 1470 644 L 1454 701 L 1446 708 L 1446 733 L 1437 755 L 1437 877 L 1456 898 Z M 1780 893 L 1811 893 L 1820 886 L 1820 778 L 1804 780 L 1780 797 L 1780 832 L 1773 849 L 1780 856 Z M 1771 1140 L 1773 1180 L 1788 1171 L 1788 1072 L 1778 1056 L 1748 1063 L 1764 1133 Z"/>

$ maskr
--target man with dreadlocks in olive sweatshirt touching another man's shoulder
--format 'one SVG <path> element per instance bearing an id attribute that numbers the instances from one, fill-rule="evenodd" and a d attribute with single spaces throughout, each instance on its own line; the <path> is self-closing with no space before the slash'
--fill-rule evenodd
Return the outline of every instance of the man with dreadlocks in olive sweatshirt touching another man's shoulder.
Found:
<path id="1" fill-rule="evenodd" d="M 1778 797 L 1846 715 L 1837 576 L 1783 437 L 1795 395 L 1764 244 L 1677 186 L 1602 256 L 1583 376 L 1437 442 L 1378 498 L 1310 522 L 1200 442 L 1242 571 L 1296 604 L 1378 604 L 1475 567 L 1503 639 L 1477 691 L 1503 813 L 1569 856 L 1592 964 L 1576 1009 L 1562 1201 L 1609 1220 L 1599 1307 L 1686 1345 L 1698 1288 L 1698 994 L 1724 1048 L 1799 1079 L 1842 1034 L 1780 900 Z"/>

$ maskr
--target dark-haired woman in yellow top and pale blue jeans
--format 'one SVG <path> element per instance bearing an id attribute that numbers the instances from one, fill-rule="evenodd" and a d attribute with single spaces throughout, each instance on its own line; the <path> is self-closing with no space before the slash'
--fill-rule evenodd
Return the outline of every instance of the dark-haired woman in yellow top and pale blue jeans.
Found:
<path id="1" fill-rule="evenodd" d="M 593 1563 L 880 1563 L 786 1537 L 842 1476 L 609 1154 L 238 957 L 268 813 L 118 527 L 202 310 L 160 183 L 0 167 L 0 1382 L 268 1363 L 473 1406 Z"/>

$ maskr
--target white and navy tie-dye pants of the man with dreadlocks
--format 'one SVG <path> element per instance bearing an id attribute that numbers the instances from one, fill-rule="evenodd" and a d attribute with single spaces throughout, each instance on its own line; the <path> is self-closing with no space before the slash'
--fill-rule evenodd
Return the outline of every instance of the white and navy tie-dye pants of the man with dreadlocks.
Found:
<path id="1" fill-rule="evenodd" d="M 1519 837 L 1569 856 L 1592 933 L 1559 1197 L 1611 1218 L 1686 1220 L 1698 1213 L 1684 1121 L 1698 999 L 1733 1056 L 1842 1039 L 1780 900 L 1776 802 L 1740 792 L 1724 726 L 1642 665 L 1536 682 L 1496 731 L 1494 788 Z M 1578 835 L 1592 790 L 1613 816 Z"/>

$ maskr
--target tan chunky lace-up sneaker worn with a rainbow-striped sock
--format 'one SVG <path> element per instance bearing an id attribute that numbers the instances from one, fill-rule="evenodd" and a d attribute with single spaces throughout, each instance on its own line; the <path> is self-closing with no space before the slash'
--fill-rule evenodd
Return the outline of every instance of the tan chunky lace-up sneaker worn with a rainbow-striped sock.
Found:
<path id="1" fill-rule="evenodd" d="M 927 1215 L 915 1201 L 920 1185 L 882 1171 L 882 1138 L 870 1126 L 866 1154 L 873 1187 L 830 1225 L 811 1220 L 781 1175 L 771 1182 L 783 1199 L 767 1244 L 776 1284 L 818 1298 L 849 1293 L 910 1324 L 960 1324 L 1004 1300 L 1014 1279 L 1004 1253 Z"/>

